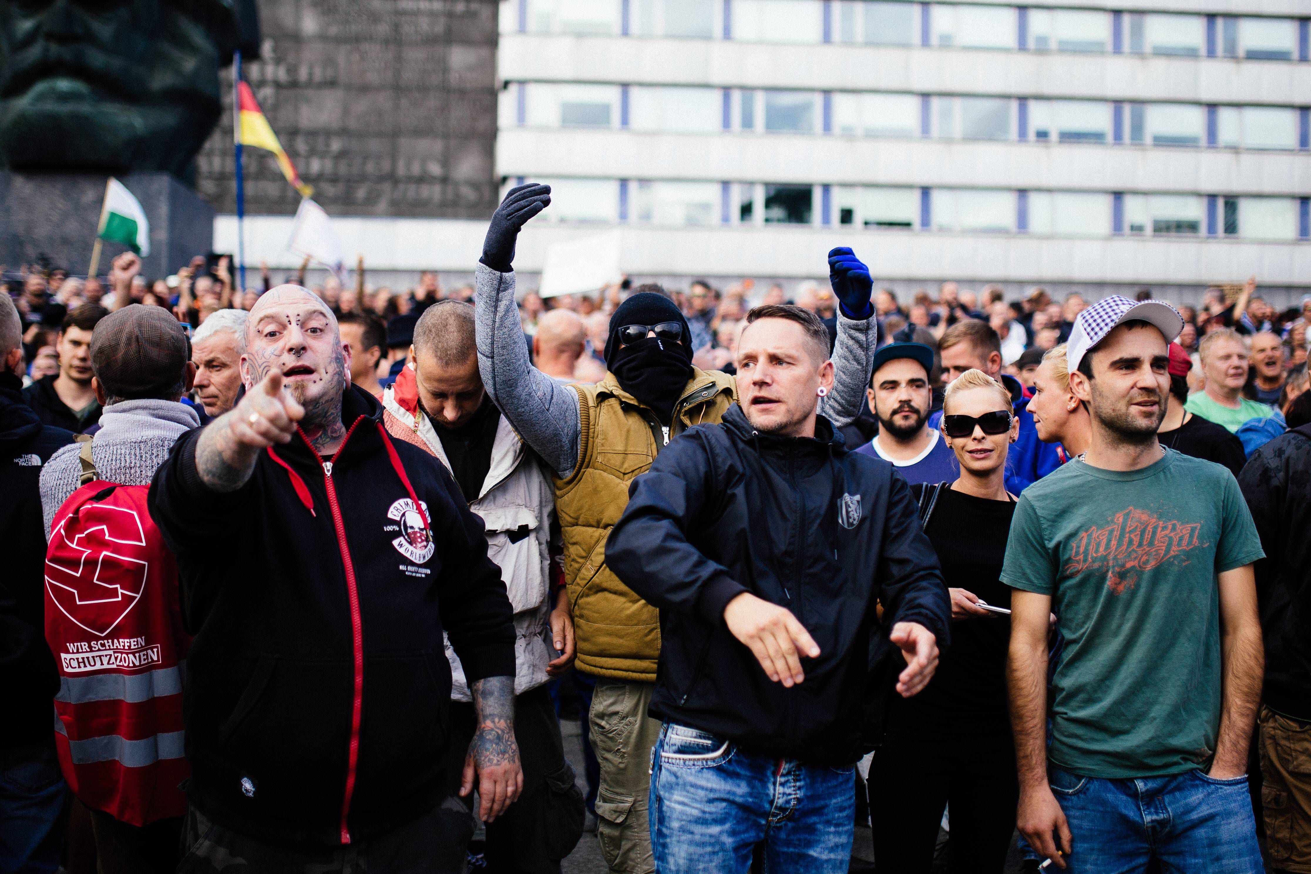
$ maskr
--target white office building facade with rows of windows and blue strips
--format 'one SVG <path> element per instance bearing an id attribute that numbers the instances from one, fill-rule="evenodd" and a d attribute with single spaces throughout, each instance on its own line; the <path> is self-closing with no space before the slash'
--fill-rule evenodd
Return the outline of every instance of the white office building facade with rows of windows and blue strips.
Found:
<path id="1" fill-rule="evenodd" d="M 503 0 L 497 166 L 635 273 L 1311 286 L 1311 8 Z M 552 233 L 553 231 L 553 233 Z M 1193 294 L 1189 294 L 1193 292 Z"/>

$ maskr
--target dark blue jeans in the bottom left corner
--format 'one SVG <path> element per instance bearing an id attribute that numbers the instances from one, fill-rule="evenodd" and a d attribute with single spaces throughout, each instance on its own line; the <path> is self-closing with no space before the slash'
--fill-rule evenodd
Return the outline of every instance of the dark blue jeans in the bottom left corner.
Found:
<path id="1" fill-rule="evenodd" d="M 0 871 L 49 874 L 59 867 L 67 802 L 54 736 L 0 751 Z"/>

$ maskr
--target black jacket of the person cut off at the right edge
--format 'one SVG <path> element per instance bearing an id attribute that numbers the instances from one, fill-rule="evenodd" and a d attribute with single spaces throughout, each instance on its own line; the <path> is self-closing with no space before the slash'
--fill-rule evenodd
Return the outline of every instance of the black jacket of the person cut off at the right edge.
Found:
<path id="1" fill-rule="evenodd" d="M 1265 702 L 1311 722 L 1311 425 L 1252 453 L 1238 478 L 1261 536 L 1256 596 L 1265 638 Z"/>

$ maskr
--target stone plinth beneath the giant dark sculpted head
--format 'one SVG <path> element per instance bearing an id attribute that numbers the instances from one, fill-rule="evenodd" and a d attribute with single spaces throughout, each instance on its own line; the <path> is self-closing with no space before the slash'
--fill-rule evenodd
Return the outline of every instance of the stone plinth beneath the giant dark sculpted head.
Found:
<path id="1" fill-rule="evenodd" d="M 0 170 L 0 263 L 16 270 L 46 257 L 51 266 L 83 275 L 90 265 L 104 173 L 12 173 Z M 168 173 L 128 173 L 117 177 L 136 197 L 151 223 L 151 253 L 142 275 L 152 279 L 174 273 L 214 241 L 214 207 Z M 104 275 L 114 256 L 127 248 L 104 242 L 97 273 Z"/>

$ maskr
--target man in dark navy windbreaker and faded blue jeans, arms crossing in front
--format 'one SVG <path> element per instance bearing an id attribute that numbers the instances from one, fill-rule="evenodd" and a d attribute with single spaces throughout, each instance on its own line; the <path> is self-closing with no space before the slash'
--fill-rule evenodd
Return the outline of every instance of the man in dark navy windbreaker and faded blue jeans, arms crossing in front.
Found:
<path id="1" fill-rule="evenodd" d="M 652 844 L 663 874 L 745 873 L 760 843 L 770 871 L 839 874 L 891 647 L 912 696 L 950 600 L 906 481 L 815 414 L 823 324 L 784 305 L 747 322 L 741 406 L 657 456 L 606 546 L 661 611 Z"/>

